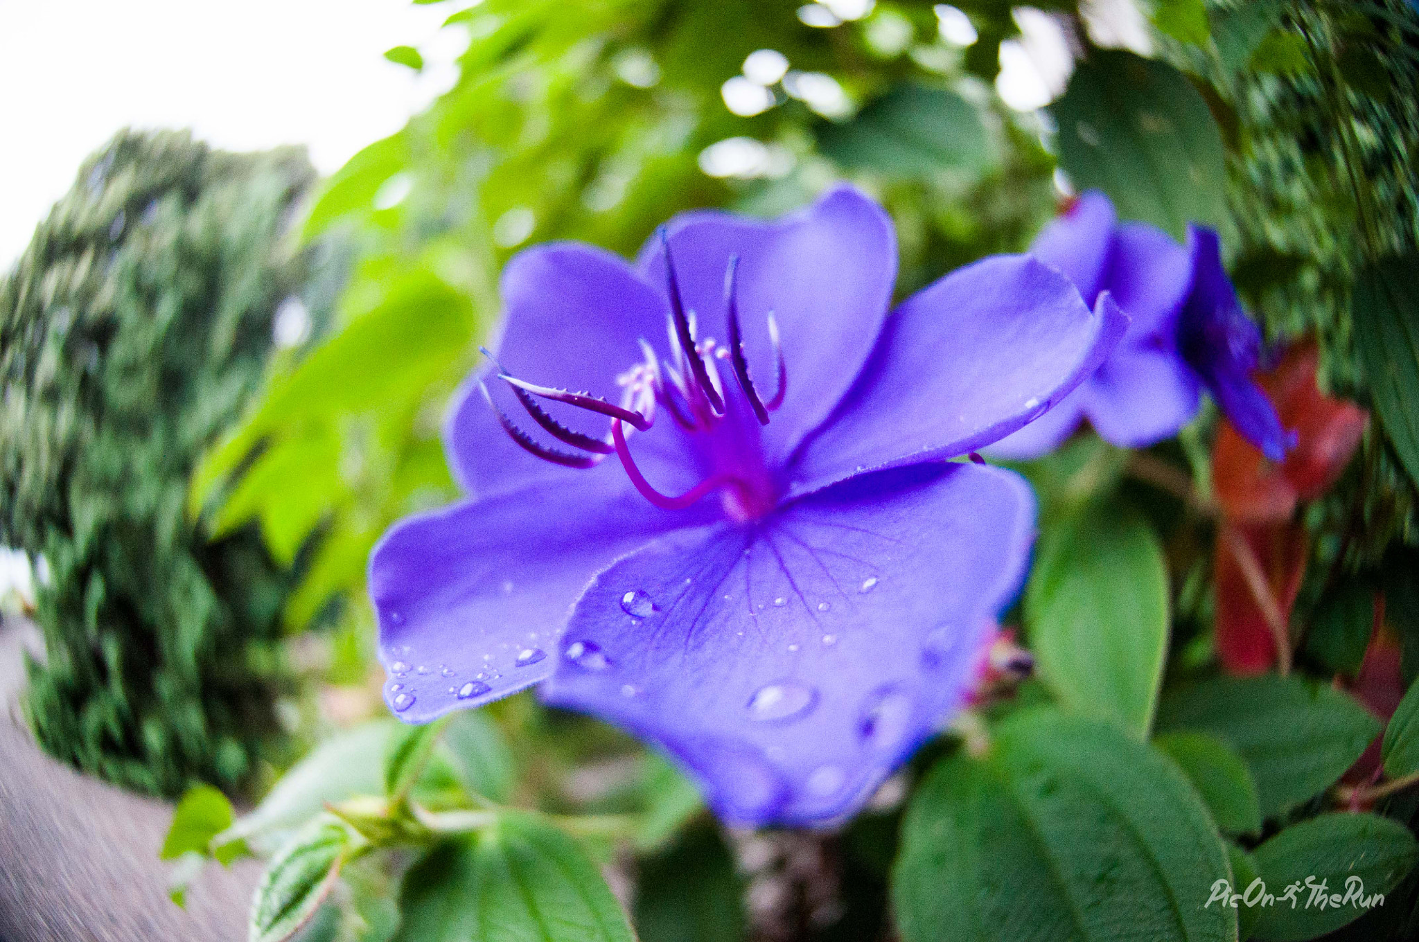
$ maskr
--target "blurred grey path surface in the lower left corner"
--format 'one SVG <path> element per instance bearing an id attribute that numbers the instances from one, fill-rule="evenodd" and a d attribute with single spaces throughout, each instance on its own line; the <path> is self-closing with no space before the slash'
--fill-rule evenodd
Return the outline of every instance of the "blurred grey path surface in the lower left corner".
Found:
<path id="1" fill-rule="evenodd" d="M 240 942 L 254 861 L 207 867 L 187 908 L 158 860 L 172 806 L 85 777 L 40 752 L 20 712 L 33 626 L 0 623 L 0 941 Z"/>

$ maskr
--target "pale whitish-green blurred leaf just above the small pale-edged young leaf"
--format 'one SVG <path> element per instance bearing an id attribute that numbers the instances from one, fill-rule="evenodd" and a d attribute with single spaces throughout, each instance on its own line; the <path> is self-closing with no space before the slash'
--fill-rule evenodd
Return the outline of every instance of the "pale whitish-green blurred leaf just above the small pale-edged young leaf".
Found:
<path id="1" fill-rule="evenodd" d="M 385 789 L 383 756 L 403 726 L 376 719 L 331 736 L 291 766 L 260 804 L 221 834 L 245 838 L 258 850 L 274 850 L 289 833 L 335 804 L 356 794 Z"/>

